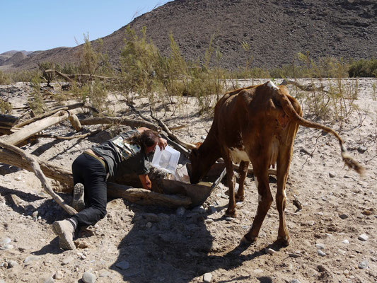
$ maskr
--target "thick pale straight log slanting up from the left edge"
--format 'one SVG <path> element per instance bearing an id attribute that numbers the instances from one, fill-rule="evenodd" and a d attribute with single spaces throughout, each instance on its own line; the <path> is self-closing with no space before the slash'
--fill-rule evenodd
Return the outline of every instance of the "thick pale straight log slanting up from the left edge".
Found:
<path id="1" fill-rule="evenodd" d="M 7 144 L 17 145 L 20 144 L 25 139 L 33 136 L 37 132 L 46 129 L 52 125 L 55 125 L 59 122 L 66 120 L 69 116 L 69 112 L 67 111 L 59 111 L 50 117 L 46 117 L 43 120 L 39 120 L 36 122 L 31 123 L 30 125 L 23 127 L 18 132 L 10 134 L 5 137 L 1 137 L 2 141 L 6 142 Z"/>

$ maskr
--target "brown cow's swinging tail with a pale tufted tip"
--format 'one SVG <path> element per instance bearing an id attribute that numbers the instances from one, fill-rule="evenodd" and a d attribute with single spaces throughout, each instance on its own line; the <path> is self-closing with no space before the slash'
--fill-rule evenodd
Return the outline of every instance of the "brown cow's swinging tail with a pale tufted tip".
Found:
<path id="1" fill-rule="evenodd" d="M 286 113 L 286 115 L 289 117 L 289 120 L 294 120 L 294 122 L 296 122 L 298 125 L 301 125 L 301 126 L 304 126 L 304 127 L 322 129 L 323 131 L 332 134 L 339 141 L 342 159 L 343 159 L 345 165 L 348 166 L 348 168 L 354 169 L 354 171 L 356 171 L 360 175 L 364 174 L 364 172 L 365 172 L 364 166 L 362 166 L 361 163 L 356 161 L 354 158 L 352 158 L 352 156 L 350 156 L 347 153 L 347 150 L 345 149 L 344 144 L 343 144 L 343 140 L 339 136 L 339 134 L 337 134 L 337 132 L 335 132 L 333 129 L 330 129 L 329 127 L 326 127 L 324 125 L 320 125 L 318 123 L 311 122 L 311 121 L 304 119 L 303 117 L 298 115 L 298 113 L 294 109 L 293 105 L 291 104 L 291 101 L 284 95 L 284 93 L 282 93 L 282 91 L 274 91 L 274 93 L 276 94 L 275 98 L 282 105 L 282 108 L 283 108 L 284 112 Z"/>

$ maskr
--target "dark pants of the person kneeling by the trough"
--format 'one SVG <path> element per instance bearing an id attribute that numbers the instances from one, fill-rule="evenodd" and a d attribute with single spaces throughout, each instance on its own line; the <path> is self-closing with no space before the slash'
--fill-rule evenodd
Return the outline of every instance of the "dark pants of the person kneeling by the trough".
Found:
<path id="1" fill-rule="evenodd" d="M 106 170 L 103 164 L 93 156 L 79 155 L 72 163 L 74 184 L 82 183 L 85 187 L 84 200 L 86 208 L 71 218 L 79 226 L 94 225 L 106 215 L 108 187 Z"/>

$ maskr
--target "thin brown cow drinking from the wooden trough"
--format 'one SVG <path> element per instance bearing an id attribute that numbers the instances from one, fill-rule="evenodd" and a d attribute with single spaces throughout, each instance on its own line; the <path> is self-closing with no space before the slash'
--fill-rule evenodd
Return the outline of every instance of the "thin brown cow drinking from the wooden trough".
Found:
<path id="1" fill-rule="evenodd" d="M 289 96 L 285 86 L 277 87 L 268 81 L 259 86 L 231 91 L 216 104 L 214 121 L 203 144 L 197 149 L 192 149 L 191 183 L 198 183 L 218 158 L 224 158 L 229 187 L 227 216 L 236 216 L 236 200 L 244 200 L 243 183 L 249 162 L 252 163 L 259 204 L 253 226 L 243 237 L 244 243 L 255 241 L 262 221 L 272 204 L 268 169 L 275 163 L 277 163 L 276 202 L 279 212 L 277 240 L 286 246 L 291 242 L 284 219 L 285 186 L 298 125 L 323 129 L 333 134 L 340 142 L 342 158 L 347 166 L 354 168 L 358 173 L 364 170 L 357 161 L 346 154 L 343 141 L 336 132 L 329 127 L 305 120 L 301 115 L 300 105 L 296 99 Z M 232 161 L 240 163 L 240 180 L 236 197 Z"/>

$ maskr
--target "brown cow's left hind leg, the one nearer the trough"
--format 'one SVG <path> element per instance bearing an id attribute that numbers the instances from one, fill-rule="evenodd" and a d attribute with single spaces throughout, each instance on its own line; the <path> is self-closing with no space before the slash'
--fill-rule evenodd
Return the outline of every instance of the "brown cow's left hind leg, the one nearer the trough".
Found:
<path id="1" fill-rule="evenodd" d="M 260 166 L 254 166 L 254 164 L 253 168 L 259 195 L 258 208 L 257 215 L 255 215 L 255 219 L 253 221 L 253 225 L 251 226 L 250 231 L 248 231 L 248 233 L 246 233 L 241 240 L 241 242 L 243 243 L 252 243 L 255 241 L 259 234 L 263 220 L 265 220 L 265 216 L 269 210 L 269 207 L 271 207 L 273 200 L 271 191 L 269 190 L 267 166 L 264 166 L 262 171 L 257 170 L 256 168 L 260 168 Z"/>

